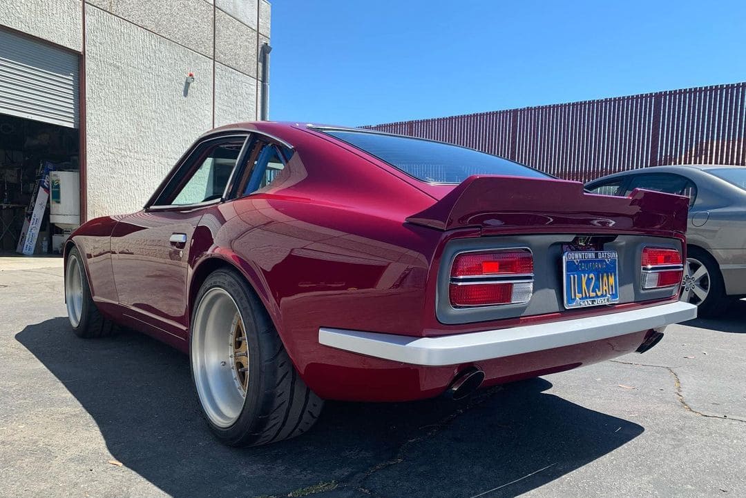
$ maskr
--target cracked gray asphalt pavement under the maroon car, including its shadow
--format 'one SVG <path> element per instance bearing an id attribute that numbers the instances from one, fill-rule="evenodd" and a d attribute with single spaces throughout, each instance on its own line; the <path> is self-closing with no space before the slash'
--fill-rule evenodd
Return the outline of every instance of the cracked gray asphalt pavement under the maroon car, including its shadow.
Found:
<path id="1" fill-rule="evenodd" d="M 329 402 L 300 438 L 234 449 L 183 354 L 78 339 L 60 259 L 0 258 L 0 496 L 742 497 L 745 317 L 466 403 Z"/>

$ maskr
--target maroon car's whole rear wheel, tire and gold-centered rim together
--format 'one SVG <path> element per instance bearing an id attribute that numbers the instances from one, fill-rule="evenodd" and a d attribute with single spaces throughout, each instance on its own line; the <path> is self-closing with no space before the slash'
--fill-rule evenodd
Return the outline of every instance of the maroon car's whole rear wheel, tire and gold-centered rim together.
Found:
<path id="1" fill-rule="evenodd" d="M 295 371 L 245 279 L 219 269 L 204 281 L 195 302 L 192 380 L 215 435 L 231 446 L 258 446 L 309 430 L 323 400 Z"/>

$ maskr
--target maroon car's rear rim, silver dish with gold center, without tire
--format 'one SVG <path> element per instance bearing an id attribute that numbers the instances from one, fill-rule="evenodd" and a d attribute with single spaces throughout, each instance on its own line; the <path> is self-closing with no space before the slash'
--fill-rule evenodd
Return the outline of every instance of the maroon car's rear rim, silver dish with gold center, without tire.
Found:
<path id="1" fill-rule="evenodd" d="M 207 418 L 218 427 L 230 427 L 246 399 L 248 345 L 238 305 L 219 287 L 199 301 L 192 325 L 192 365 Z"/>

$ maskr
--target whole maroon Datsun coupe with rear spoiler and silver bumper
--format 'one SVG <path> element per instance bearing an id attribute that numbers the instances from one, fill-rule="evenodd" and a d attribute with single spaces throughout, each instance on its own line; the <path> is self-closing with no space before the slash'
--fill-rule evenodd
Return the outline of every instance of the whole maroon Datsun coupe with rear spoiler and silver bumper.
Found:
<path id="1" fill-rule="evenodd" d="M 647 351 L 696 316 L 687 205 L 437 141 L 235 124 L 142 211 L 72 234 L 67 310 L 79 336 L 117 323 L 189 354 L 213 432 L 266 444 L 325 399 L 462 398 Z"/>

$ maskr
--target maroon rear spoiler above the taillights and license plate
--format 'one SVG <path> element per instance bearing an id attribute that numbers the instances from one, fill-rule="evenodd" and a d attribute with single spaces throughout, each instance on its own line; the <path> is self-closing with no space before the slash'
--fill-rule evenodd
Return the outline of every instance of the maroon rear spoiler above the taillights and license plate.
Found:
<path id="1" fill-rule="evenodd" d="M 661 192 L 635 189 L 629 197 L 613 197 L 588 194 L 580 182 L 469 176 L 407 221 L 444 231 L 466 227 L 577 231 L 588 227 L 598 232 L 683 233 L 688 209 L 686 197 Z"/>

